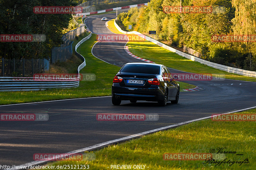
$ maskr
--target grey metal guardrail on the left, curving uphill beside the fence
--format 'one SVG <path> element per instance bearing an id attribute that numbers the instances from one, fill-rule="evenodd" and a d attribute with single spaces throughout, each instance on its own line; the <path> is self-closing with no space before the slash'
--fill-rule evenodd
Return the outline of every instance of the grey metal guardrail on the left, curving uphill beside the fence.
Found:
<path id="1" fill-rule="evenodd" d="M 77 49 L 84 41 L 88 40 L 92 33 L 76 44 Z M 85 58 L 76 52 L 76 55 L 83 60 L 77 68 L 77 73 L 85 67 Z M 0 91 L 28 91 L 45 90 L 47 88 L 71 88 L 79 86 L 78 78 L 60 78 L 59 81 L 47 78 L 44 81 L 35 81 L 32 77 L 0 77 Z"/>

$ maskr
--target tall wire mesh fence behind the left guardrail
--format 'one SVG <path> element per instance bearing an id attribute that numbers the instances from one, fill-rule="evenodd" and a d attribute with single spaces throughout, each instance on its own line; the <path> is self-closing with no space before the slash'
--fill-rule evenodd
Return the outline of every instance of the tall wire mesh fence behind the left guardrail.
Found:
<path id="1" fill-rule="evenodd" d="M 72 57 L 71 41 L 84 33 L 84 25 L 71 30 L 62 36 L 63 44 L 60 47 L 52 48 L 51 63 L 66 62 Z M 44 73 L 50 67 L 50 60 L 47 59 L 4 59 L 0 58 L 0 77 L 33 77 L 35 73 Z"/>

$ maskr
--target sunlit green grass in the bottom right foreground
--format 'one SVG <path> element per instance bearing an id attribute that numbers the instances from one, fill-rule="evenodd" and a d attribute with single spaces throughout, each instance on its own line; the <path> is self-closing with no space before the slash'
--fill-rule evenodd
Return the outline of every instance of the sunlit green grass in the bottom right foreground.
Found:
<path id="1" fill-rule="evenodd" d="M 255 112 L 256 109 L 252 109 L 239 114 Z M 110 169 L 110 165 L 146 165 L 145 169 L 150 170 L 255 169 L 255 128 L 255 122 L 215 122 L 207 119 L 91 152 L 96 155 L 93 161 L 58 161 L 50 165 L 89 165 L 92 170 Z M 226 153 L 226 161 L 247 158 L 249 164 L 222 163 L 215 166 L 204 160 L 163 160 L 164 153 L 209 153 L 210 149 L 217 151 L 217 148 L 243 154 Z"/>

